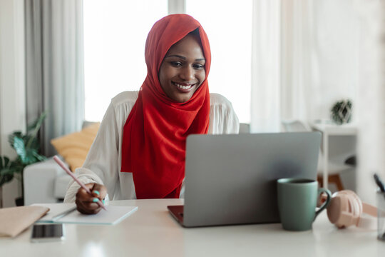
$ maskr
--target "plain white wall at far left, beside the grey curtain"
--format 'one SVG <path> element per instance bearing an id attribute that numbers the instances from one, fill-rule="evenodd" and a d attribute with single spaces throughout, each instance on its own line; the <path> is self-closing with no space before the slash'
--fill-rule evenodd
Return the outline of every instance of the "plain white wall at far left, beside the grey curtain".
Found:
<path id="1" fill-rule="evenodd" d="M 26 128 L 24 0 L 0 1 L 0 155 L 14 158 L 8 135 Z M 3 187 L 3 206 L 21 196 L 16 179 Z"/>

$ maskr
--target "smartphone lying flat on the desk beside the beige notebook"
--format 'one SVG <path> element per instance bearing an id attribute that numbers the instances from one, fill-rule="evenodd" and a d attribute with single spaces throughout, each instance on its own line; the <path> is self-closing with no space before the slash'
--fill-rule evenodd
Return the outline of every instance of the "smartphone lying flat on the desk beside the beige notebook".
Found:
<path id="1" fill-rule="evenodd" d="M 64 239 L 63 224 L 35 224 L 31 242 L 61 241 Z"/>

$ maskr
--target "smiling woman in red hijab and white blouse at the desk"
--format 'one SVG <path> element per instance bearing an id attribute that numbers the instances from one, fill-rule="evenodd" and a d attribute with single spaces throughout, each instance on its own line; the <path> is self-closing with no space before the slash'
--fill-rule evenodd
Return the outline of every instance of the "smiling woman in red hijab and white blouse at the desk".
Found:
<path id="1" fill-rule="evenodd" d="M 202 26 L 186 14 L 157 21 L 145 44 L 148 74 L 139 92 L 112 99 L 98 135 L 76 175 L 93 196 L 70 183 L 65 202 L 98 213 L 106 197 L 183 196 L 185 140 L 191 133 L 237 133 L 227 99 L 209 94 L 210 46 Z"/>

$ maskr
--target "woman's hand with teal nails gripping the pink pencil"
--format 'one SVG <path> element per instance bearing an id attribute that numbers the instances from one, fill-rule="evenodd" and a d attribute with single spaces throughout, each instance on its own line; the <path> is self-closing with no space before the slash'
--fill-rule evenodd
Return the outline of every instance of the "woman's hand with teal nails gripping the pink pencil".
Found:
<path id="1" fill-rule="evenodd" d="M 85 186 L 90 189 L 92 194 L 79 188 L 75 201 L 77 210 L 83 214 L 96 214 L 101 211 L 101 206 L 97 202 L 99 199 L 103 201 L 106 197 L 107 188 L 98 183 L 87 183 Z"/>

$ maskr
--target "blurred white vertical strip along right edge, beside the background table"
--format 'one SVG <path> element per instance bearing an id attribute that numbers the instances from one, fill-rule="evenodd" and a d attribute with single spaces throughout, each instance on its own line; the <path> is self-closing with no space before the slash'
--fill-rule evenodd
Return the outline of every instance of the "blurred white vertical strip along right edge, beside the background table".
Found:
<path id="1" fill-rule="evenodd" d="M 373 173 L 385 179 L 385 3 L 359 1 L 359 172 L 357 192 L 376 203 Z"/>

